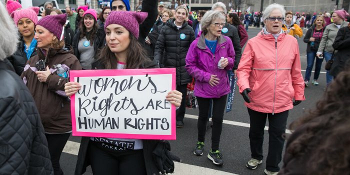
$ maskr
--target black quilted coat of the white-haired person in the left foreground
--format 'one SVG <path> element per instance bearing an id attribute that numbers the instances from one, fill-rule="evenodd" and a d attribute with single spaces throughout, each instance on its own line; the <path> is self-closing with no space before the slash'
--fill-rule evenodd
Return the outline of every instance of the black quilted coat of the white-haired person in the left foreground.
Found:
<path id="1" fill-rule="evenodd" d="M 53 175 L 33 97 L 7 59 L 0 76 L 0 174 Z"/>

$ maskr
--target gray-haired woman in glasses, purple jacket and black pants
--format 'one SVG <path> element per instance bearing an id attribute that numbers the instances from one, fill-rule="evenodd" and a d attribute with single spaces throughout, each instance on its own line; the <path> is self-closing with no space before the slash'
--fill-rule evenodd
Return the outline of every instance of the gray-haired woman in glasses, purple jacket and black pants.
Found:
<path id="1" fill-rule="evenodd" d="M 208 11 L 204 14 L 199 37 L 191 43 L 186 56 L 186 70 L 195 78 L 194 95 L 199 106 L 198 140 L 193 153 L 203 154 L 206 122 L 210 99 L 212 107 L 211 150 L 207 155 L 214 164 L 222 164 L 222 154 L 218 151 L 222 130 L 223 111 L 230 92 L 227 70 L 234 65 L 234 49 L 231 39 L 223 36 L 221 30 L 226 18 L 221 11 Z"/>

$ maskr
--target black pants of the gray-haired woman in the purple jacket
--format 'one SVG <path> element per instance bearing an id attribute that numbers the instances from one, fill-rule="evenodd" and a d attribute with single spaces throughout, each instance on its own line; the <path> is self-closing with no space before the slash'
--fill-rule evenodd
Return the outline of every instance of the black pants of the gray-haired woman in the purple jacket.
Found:
<path id="1" fill-rule="evenodd" d="M 209 114 L 209 102 L 213 101 L 212 105 L 212 130 L 211 130 L 211 149 L 213 151 L 218 150 L 220 135 L 222 130 L 223 111 L 226 105 L 227 95 L 223 95 L 220 98 L 202 98 L 197 96 L 197 102 L 199 106 L 199 116 L 197 122 L 198 128 L 198 141 L 204 142 L 206 122 Z"/>

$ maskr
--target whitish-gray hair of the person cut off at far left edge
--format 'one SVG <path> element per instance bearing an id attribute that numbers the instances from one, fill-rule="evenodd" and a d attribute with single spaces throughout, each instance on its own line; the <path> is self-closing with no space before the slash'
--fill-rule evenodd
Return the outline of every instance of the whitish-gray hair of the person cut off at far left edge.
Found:
<path id="1" fill-rule="evenodd" d="M 0 3 L 0 60 L 12 55 L 17 50 L 18 30 L 9 17 L 5 6 Z"/>

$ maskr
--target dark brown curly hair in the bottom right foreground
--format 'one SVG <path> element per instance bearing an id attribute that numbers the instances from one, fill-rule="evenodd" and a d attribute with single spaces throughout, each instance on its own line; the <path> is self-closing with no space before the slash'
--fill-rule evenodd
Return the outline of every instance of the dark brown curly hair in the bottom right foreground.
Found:
<path id="1" fill-rule="evenodd" d="M 286 151 L 295 157 L 305 155 L 307 174 L 350 172 L 350 61 L 345 70 L 327 86 L 316 108 L 293 121 L 289 128 L 309 123 Z M 312 122 L 309 122 L 312 120 Z"/>

